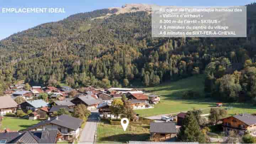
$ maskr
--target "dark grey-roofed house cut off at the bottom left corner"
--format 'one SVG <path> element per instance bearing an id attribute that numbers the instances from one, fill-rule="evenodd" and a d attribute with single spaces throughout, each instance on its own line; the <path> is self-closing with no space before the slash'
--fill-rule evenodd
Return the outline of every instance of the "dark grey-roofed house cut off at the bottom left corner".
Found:
<path id="1" fill-rule="evenodd" d="M 59 130 L 0 133 L 0 143 L 55 144 L 62 137 Z"/>

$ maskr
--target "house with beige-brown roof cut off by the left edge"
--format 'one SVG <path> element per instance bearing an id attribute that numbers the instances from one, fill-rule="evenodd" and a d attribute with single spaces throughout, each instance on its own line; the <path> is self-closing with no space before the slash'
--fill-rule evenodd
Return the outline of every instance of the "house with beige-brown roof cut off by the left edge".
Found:
<path id="1" fill-rule="evenodd" d="M 11 96 L 0 96 L 0 116 L 6 113 L 15 113 L 18 104 L 11 98 Z"/>

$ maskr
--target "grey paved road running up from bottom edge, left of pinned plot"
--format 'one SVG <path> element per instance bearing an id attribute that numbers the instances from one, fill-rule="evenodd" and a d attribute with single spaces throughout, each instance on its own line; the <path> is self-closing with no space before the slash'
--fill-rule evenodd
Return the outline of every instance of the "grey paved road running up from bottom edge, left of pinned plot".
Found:
<path id="1" fill-rule="evenodd" d="M 93 111 L 86 121 L 85 127 L 80 135 L 79 143 L 94 143 L 94 134 L 98 121 L 98 112 Z"/>

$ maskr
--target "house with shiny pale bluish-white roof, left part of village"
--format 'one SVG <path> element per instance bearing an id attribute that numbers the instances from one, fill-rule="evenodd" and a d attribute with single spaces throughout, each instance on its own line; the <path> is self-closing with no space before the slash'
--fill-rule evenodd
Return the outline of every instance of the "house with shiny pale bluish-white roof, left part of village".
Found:
<path id="1" fill-rule="evenodd" d="M 29 100 L 19 105 L 19 107 L 23 111 L 27 111 L 27 110 L 36 111 L 41 107 L 47 107 L 47 106 L 48 106 L 48 103 L 45 102 L 44 100 Z"/>

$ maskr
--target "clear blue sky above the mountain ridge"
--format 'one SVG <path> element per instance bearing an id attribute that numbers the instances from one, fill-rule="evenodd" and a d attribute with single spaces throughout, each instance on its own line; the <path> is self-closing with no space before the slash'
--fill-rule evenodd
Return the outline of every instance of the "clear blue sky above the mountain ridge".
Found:
<path id="1" fill-rule="evenodd" d="M 0 0 L 0 40 L 42 23 L 124 4 L 162 6 L 243 6 L 256 0 Z M 65 13 L 4 13 L 5 8 L 63 8 Z"/>

